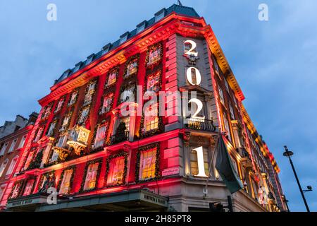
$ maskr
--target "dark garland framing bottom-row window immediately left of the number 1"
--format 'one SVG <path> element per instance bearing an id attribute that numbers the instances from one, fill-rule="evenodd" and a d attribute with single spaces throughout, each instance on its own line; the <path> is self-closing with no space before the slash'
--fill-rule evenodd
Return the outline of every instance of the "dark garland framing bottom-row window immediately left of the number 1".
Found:
<path id="1" fill-rule="evenodd" d="M 145 180 L 139 180 L 139 167 L 140 167 L 140 160 L 141 160 L 141 152 L 150 150 L 152 148 L 156 148 L 156 160 L 155 160 L 155 177 Z M 160 164 L 160 143 L 151 143 L 149 145 L 143 146 L 137 150 L 137 162 L 135 164 L 135 182 L 142 183 L 142 182 L 151 182 L 154 180 L 159 179 L 159 164 Z"/>

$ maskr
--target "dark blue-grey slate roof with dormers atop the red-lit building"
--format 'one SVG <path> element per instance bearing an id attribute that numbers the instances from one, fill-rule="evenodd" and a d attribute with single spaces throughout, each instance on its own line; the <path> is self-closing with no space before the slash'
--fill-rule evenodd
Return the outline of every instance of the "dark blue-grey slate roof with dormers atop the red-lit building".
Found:
<path id="1" fill-rule="evenodd" d="M 177 5 L 177 4 L 173 4 L 169 8 L 162 8 L 160 11 L 155 13 L 155 15 L 158 15 L 162 11 L 165 11 L 163 18 L 168 16 L 170 13 L 174 13 L 174 12 L 178 13 L 178 14 L 181 14 L 181 15 L 185 15 L 185 16 L 192 16 L 192 17 L 197 17 L 197 18 L 200 17 L 199 14 L 194 10 L 194 8 L 187 7 L 187 6 L 180 6 L 180 5 Z M 151 25 L 154 25 L 154 23 L 156 23 L 155 22 L 155 18 L 156 18 L 156 16 L 154 16 L 150 20 L 144 20 L 139 25 L 142 25 L 143 23 L 145 23 L 145 28 L 144 28 L 144 30 L 145 30 L 145 29 L 151 27 Z M 139 26 L 139 25 L 137 25 L 137 26 Z M 135 28 L 135 30 L 132 30 L 131 32 L 126 32 L 125 34 L 128 34 L 127 40 L 129 40 L 131 37 L 137 35 L 137 28 Z M 125 35 L 125 34 L 123 34 L 123 35 Z M 121 35 L 120 37 L 122 37 L 123 35 Z M 109 52 L 109 51 L 111 51 L 113 49 L 116 49 L 118 46 L 120 46 L 120 39 L 116 40 L 116 42 L 106 44 L 101 49 L 101 51 L 97 52 L 97 54 L 89 55 L 89 57 L 87 57 L 87 59 L 85 61 L 80 61 L 77 64 L 75 64 L 75 67 L 73 69 L 67 69 L 66 71 L 64 71 L 63 74 L 55 81 L 54 85 L 59 83 L 59 82 L 61 82 L 61 81 L 63 81 L 65 78 L 68 78 L 69 76 L 71 76 L 76 71 L 78 71 L 78 70 L 84 68 L 85 66 L 91 64 L 93 61 L 99 59 L 100 57 L 102 57 L 107 52 Z"/>

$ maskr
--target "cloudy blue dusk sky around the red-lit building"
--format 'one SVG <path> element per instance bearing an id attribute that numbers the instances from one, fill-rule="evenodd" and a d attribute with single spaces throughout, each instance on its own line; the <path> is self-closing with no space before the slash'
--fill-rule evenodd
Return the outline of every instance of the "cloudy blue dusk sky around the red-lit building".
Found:
<path id="1" fill-rule="evenodd" d="M 176 1 L 0 1 L 0 124 L 39 111 L 61 73 Z M 57 20 L 46 20 L 46 6 Z M 268 5 L 268 21 L 258 18 Z M 280 166 L 292 211 L 317 210 L 317 1 L 182 0 L 211 25 L 246 97 L 244 105 Z"/>

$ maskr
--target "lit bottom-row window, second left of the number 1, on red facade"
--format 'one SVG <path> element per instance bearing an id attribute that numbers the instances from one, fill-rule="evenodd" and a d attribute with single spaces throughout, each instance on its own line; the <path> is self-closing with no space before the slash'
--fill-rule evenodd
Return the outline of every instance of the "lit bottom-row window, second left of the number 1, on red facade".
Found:
<path id="1" fill-rule="evenodd" d="M 109 164 L 107 185 L 123 184 L 125 157 L 113 158 Z"/>

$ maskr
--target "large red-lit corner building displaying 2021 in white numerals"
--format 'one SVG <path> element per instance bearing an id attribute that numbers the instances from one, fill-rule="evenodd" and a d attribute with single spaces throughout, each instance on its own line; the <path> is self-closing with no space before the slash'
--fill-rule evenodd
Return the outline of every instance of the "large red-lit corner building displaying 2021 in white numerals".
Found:
<path id="1" fill-rule="evenodd" d="M 147 91 L 157 105 L 138 98 Z M 160 98 L 163 91 L 170 93 Z M 196 100 L 185 95 L 192 92 Z M 181 102 L 168 98 L 175 93 Z M 285 210 L 280 169 L 242 100 L 210 25 L 193 8 L 164 8 L 68 69 L 39 100 L 42 110 L 10 180 L 7 208 L 208 210 L 230 195 L 210 162 L 223 132 L 244 183 L 232 195 L 234 210 Z M 195 117 L 187 117 L 190 102 L 201 103 Z M 159 105 L 163 115 L 144 115 Z M 206 175 L 212 166 L 209 179 L 198 159 Z M 260 187 L 267 203 L 259 202 Z M 57 203 L 43 205 L 49 188 L 58 192 Z M 89 204 L 96 197 L 98 203 Z"/>

